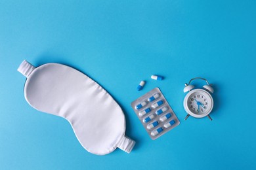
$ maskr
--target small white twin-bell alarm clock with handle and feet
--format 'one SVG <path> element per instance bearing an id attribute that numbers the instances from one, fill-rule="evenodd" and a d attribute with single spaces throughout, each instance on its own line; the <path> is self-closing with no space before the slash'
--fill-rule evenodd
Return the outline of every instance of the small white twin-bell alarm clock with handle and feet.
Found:
<path id="1" fill-rule="evenodd" d="M 190 82 L 195 79 L 205 80 L 207 85 L 204 85 L 203 89 L 194 89 L 195 86 L 191 85 Z M 213 110 L 213 97 L 211 97 L 210 93 L 213 93 L 214 90 L 211 86 L 212 84 L 209 84 L 205 78 L 201 77 L 192 78 L 188 84 L 185 84 L 183 91 L 184 93 L 188 92 L 183 101 L 184 109 L 188 113 L 185 120 L 188 116 L 193 116 L 195 118 L 203 118 L 207 116 L 212 120 L 209 116 L 211 110 Z"/>

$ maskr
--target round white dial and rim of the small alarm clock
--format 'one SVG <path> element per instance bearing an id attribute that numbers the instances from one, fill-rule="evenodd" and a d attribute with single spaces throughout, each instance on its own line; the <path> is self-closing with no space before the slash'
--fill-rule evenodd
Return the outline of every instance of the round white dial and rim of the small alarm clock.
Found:
<path id="1" fill-rule="evenodd" d="M 196 118 L 202 118 L 213 109 L 213 98 L 205 90 L 192 90 L 184 99 L 184 109 L 188 114 Z"/>

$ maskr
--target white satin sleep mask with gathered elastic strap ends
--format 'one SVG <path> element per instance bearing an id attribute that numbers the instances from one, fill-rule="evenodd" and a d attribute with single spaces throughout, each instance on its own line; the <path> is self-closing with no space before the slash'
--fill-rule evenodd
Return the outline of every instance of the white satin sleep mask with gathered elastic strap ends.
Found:
<path id="1" fill-rule="evenodd" d="M 131 152 L 125 116 L 106 90 L 83 73 L 58 63 L 33 67 L 24 60 L 18 71 L 27 77 L 26 101 L 35 109 L 66 118 L 81 145 L 104 155 L 117 147 Z"/>

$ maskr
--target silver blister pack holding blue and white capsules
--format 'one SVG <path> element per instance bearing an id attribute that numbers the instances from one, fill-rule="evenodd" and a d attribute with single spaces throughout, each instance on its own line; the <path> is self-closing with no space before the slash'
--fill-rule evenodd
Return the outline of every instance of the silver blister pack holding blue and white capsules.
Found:
<path id="1" fill-rule="evenodd" d="M 133 101 L 131 107 L 153 140 L 180 124 L 159 88 Z"/>

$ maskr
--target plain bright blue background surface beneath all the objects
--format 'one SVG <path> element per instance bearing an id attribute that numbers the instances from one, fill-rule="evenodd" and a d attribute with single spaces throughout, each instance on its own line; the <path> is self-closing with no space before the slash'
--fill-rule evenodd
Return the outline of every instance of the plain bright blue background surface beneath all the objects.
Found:
<path id="1" fill-rule="evenodd" d="M 255 9 L 249 0 L 1 0 L 0 169 L 256 169 Z M 30 107 L 23 59 L 70 65 L 108 90 L 137 141 L 131 154 L 90 154 L 66 120 Z M 184 120 L 182 90 L 195 76 L 214 84 L 212 122 Z M 152 141 L 130 103 L 155 87 L 181 124 Z"/>

